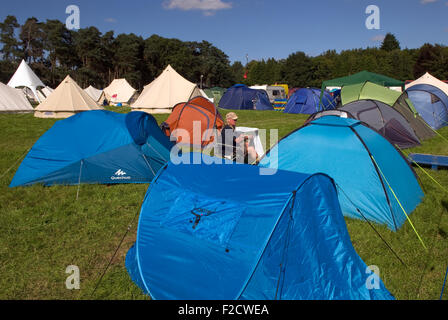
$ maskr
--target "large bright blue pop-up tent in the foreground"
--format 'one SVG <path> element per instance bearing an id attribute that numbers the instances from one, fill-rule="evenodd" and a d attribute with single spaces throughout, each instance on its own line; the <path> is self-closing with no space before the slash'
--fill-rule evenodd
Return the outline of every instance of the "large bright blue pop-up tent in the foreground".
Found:
<path id="1" fill-rule="evenodd" d="M 146 193 L 126 268 L 152 299 L 393 299 L 379 278 L 367 289 L 328 176 L 202 157 Z"/>

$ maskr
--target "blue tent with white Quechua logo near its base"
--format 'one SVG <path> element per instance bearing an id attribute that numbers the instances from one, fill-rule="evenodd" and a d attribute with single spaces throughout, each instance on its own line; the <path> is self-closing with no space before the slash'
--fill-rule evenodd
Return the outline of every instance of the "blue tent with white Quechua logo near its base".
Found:
<path id="1" fill-rule="evenodd" d="M 10 187 L 42 183 L 149 183 L 172 142 L 150 114 L 85 111 L 57 121 L 34 144 Z"/>

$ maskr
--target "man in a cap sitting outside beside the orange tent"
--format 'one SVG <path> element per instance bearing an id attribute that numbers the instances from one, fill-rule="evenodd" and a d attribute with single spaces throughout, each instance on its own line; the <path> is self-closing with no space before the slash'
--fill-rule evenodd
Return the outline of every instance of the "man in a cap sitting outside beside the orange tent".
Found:
<path id="1" fill-rule="evenodd" d="M 226 115 L 226 125 L 221 131 L 221 156 L 237 162 L 254 163 L 258 159 L 253 144 L 253 136 L 236 135 L 238 116 L 235 112 Z M 241 145 L 241 142 L 243 144 Z"/>

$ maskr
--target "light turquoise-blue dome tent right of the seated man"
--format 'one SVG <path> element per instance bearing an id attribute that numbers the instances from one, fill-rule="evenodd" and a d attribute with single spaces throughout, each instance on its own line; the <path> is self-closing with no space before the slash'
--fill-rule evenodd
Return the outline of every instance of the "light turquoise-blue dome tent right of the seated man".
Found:
<path id="1" fill-rule="evenodd" d="M 400 151 L 355 119 L 326 116 L 311 121 L 280 140 L 259 165 L 328 174 L 341 189 L 344 215 L 394 231 L 423 197 L 417 176 Z"/>

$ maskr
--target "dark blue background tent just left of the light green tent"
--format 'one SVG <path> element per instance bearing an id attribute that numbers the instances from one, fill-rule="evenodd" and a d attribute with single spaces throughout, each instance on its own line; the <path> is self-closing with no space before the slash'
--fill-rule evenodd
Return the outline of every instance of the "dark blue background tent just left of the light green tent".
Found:
<path id="1" fill-rule="evenodd" d="M 320 92 L 321 90 L 316 88 L 301 88 L 295 91 L 288 99 L 283 112 L 313 114 L 323 110 L 335 109 L 336 99 L 327 91 L 324 91 L 322 105 L 319 106 Z"/>

